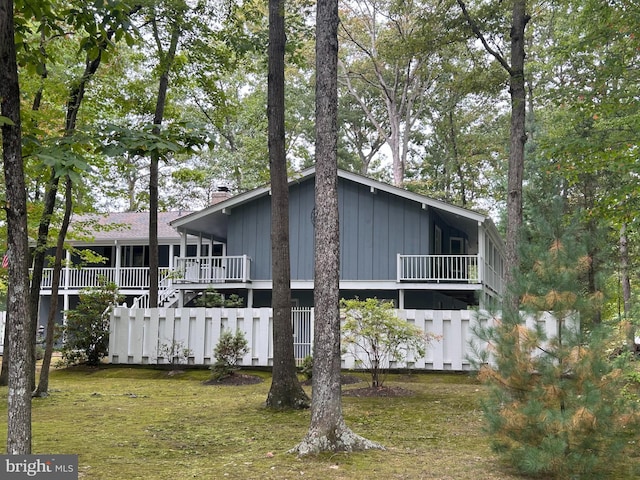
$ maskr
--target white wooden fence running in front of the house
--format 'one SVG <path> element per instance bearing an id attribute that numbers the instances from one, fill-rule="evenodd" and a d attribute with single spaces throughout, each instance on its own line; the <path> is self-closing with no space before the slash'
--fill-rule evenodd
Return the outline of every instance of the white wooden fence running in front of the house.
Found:
<path id="1" fill-rule="evenodd" d="M 478 323 L 471 310 L 398 310 L 400 318 L 413 323 L 423 331 L 439 337 L 432 342 L 422 358 L 408 358 L 405 364 L 387 362 L 392 368 L 421 370 L 470 370 L 469 356 L 473 355 L 472 340 L 476 348 L 486 348 L 473 335 Z M 294 352 L 297 362 L 313 351 L 313 309 L 296 308 L 292 312 Z M 491 325 L 493 320 L 482 316 L 480 320 Z M 550 314 L 527 319 L 533 328 L 538 322 L 549 336 L 555 336 L 557 320 Z M 111 314 L 111 333 L 108 359 L 114 364 L 163 364 L 170 359 L 159 355 L 163 344 L 172 342 L 190 350 L 186 362 L 190 365 L 211 365 L 215 362 L 213 349 L 220 333 L 229 329 L 241 330 L 250 351 L 239 362 L 243 366 L 271 366 L 273 364 L 273 317 L 270 308 L 115 308 Z M 362 357 L 360 357 L 362 358 Z M 362 368 L 357 358 L 344 353 L 345 369 Z"/>

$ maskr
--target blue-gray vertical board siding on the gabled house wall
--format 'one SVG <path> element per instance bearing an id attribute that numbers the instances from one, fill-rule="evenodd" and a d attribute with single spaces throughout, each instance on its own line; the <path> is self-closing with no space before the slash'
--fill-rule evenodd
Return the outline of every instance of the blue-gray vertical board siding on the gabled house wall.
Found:
<path id="1" fill-rule="evenodd" d="M 289 189 L 292 280 L 313 280 L 314 179 Z M 338 179 L 338 202 L 342 280 L 395 280 L 398 253 L 434 253 L 435 225 L 443 232 L 443 246 L 448 236 L 466 238 L 420 203 L 344 178 Z M 228 217 L 227 254 L 248 255 L 253 280 L 271 279 L 270 219 L 269 196 L 234 207 Z"/>

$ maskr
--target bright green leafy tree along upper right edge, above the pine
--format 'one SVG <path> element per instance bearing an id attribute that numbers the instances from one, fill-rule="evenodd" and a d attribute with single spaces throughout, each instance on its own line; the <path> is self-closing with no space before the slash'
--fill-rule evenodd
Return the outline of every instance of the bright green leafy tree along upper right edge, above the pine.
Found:
<path id="1" fill-rule="evenodd" d="M 541 172 L 555 179 L 571 208 L 584 212 L 592 238 L 602 238 L 597 234 L 600 229 L 612 232 L 590 246 L 589 288 L 601 288 L 598 277 L 607 268 L 611 274 L 619 269 L 623 286 L 629 286 L 621 289 L 620 303 L 627 312 L 633 278 L 627 253 L 637 248 L 629 241 L 638 229 L 634 212 L 640 200 L 634 173 L 639 127 L 635 108 L 639 75 L 634 66 L 640 60 L 640 44 L 633 33 L 639 13 L 633 2 L 558 4 L 553 41 L 541 68 L 548 79 L 543 84 L 547 102 L 537 121 Z M 612 244 L 627 247 L 620 250 L 616 269 Z M 629 340 L 632 335 L 630 331 Z"/>

